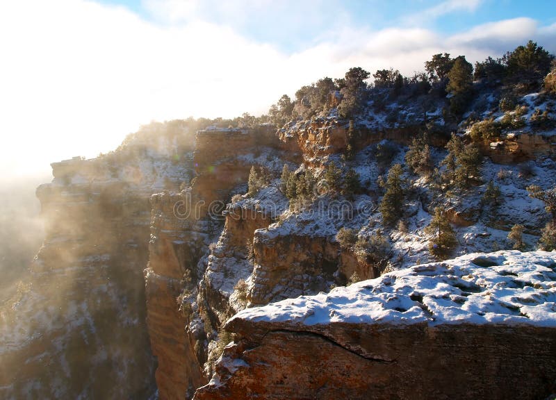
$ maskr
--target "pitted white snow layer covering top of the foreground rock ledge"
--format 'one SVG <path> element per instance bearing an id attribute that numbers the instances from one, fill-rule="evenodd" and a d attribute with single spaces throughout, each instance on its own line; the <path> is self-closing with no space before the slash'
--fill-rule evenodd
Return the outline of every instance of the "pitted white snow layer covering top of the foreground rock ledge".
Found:
<path id="1" fill-rule="evenodd" d="M 321 325 L 528 324 L 556 327 L 556 252 L 471 253 L 391 272 L 328 294 L 286 299 L 232 317 Z"/>

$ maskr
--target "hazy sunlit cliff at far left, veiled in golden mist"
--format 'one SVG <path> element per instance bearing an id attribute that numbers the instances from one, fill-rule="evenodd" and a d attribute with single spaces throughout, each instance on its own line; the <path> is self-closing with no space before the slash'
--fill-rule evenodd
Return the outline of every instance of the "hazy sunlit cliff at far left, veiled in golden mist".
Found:
<path id="1" fill-rule="evenodd" d="M 148 199 L 188 180 L 182 133 L 144 132 L 106 156 L 52 165 L 54 181 L 37 190 L 46 239 L 31 281 L 1 315 L 1 398 L 140 399 L 156 390 L 142 276 Z"/>

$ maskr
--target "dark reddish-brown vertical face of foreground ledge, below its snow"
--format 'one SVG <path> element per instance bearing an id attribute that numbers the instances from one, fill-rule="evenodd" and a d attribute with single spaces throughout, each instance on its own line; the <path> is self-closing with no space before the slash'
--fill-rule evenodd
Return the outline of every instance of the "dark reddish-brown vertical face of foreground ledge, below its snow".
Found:
<path id="1" fill-rule="evenodd" d="M 553 328 L 332 324 L 229 326 L 208 399 L 544 399 L 556 378 Z"/>

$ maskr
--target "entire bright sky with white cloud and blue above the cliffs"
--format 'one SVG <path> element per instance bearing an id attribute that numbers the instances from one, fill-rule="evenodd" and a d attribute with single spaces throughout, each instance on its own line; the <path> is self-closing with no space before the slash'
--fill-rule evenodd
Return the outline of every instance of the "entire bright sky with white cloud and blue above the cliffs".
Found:
<path id="1" fill-rule="evenodd" d="M 0 183 L 153 120 L 261 115 L 350 67 L 410 75 L 530 39 L 556 52 L 556 1 L 0 1 Z"/>

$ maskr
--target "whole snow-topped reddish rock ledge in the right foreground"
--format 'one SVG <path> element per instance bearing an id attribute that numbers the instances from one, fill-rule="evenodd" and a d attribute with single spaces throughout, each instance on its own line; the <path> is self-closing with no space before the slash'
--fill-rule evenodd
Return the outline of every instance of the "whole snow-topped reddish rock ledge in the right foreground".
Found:
<path id="1" fill-rule="evenodd" d="M 194 399 L 544 399 L 555 296 L 555 253 L 500 251 L 250 308 Z"/>

